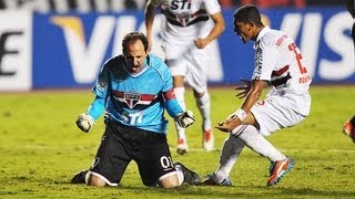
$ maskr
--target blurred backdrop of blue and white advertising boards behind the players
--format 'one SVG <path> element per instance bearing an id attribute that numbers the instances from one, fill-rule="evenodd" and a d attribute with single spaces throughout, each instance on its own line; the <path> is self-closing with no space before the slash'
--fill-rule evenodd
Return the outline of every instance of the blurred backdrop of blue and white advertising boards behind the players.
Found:
<path id="1" fill-rule="evenodd" d="M 256 3 L 275 29 L 290 33 L 310 59 L 314 84 L 355 82 L 353 19 L 336 0 L 221 0 L 226 30 L 212 45 L 211 85 L 247 78 L 253 43 L 234 35 L 232 15 Z M 144 0 L 1 0 L 0 91 L 90 87 L 102 63 L 121 52 L 130 31 L 144 31 Z M 152 53 L 163 57 L 159 25 Z M 250 67 L 248 67 L 250 66 Z"/>

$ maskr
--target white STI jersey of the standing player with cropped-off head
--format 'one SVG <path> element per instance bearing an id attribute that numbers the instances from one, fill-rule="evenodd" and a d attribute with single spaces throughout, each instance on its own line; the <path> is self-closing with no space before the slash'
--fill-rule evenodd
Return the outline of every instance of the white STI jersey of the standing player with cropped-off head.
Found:
<path id="1" fill-rule="evenodd" d="M 210 15 L 221 12 L 217 0 L 151 0 L 165 15 L 162 38 L 184 42 L 205 38 L 214 23 Z"/>

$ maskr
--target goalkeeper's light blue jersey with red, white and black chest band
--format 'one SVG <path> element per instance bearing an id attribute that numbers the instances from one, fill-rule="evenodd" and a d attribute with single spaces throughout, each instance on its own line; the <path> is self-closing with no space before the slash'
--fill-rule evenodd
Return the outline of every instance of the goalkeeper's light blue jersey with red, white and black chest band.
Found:
<path id="1" fill-rule="evenodd" d="M 110 59 L 101 69 L 92 91 L 95 101 L 88 109 L 98 119 L 105 109 L 105 119 L 126 126 L 165 134 L 168 119 L 183 112 L 173 92 L 172 76 L 165 63 L 149 55 L 139 74 L 130 74 L 123 55 Z"/>

